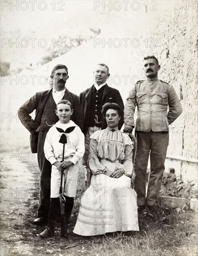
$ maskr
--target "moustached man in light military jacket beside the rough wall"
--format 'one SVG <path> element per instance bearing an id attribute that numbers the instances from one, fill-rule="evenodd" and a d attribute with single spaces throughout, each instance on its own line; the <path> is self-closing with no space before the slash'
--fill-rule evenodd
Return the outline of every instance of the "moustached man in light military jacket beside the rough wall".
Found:
<path id="1" fill-rule="evenodd" d="M 155 56 L 144 58 L 145 81 L 138 81 L 130 90 L 124 108 L 125 132 L 134 128 L 134 111 L 137 106 L 135 131 L 137 154 L 134 163 L 139 209 L 155 209 L 158 205 L 168 147 L 169 124 L 182 113 L 179 98 L 172 86 L 158 79 L 160 65 Z M 168 112 L 167 109 L 169 108 Z M 151 171 L 146 196 L 146 172 L 150 153 Z"/>

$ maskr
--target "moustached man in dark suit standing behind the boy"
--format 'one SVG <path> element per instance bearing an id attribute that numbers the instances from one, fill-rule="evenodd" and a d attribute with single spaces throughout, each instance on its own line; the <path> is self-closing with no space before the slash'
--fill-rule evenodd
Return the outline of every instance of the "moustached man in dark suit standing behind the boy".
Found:
<path id="1" fill-rule="evenodd" d="M 33 222 L 37 225 L 44 224 L 48 219 L 51 193 L 51 163 L 45 158 L 44 142 L 48 130 L 58 121 L 58 117 L 55 113 L 58 101 L 64 99 L 71 102 L 74 109 L 71 120 L 74 121 L 83 131 L 82 110 L 79 98 L 76 94 L 71 93 L 67 88 L 65 88 L 65 83 L 68 78 L 69 75 L 67 67 L 61 64 L 56 65 L 51 72 L 53 88 L 36 93 L 18 110 L 20 121 L 31 133 L 32 153 L 38 152 L 38 166 L 41 171 L 40 195 L 38 218 Z M 35 109 L 36 115 L 33 120 L 30 114 Z M 33 141 L 33 138 L 35 137 L 38 138 L 36 143 Z"/>

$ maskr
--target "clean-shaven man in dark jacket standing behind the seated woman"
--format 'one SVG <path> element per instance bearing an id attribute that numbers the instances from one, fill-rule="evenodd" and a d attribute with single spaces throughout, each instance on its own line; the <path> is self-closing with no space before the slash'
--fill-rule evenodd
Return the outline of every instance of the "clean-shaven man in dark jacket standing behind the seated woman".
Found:
<path id="1" fill-rule="evenodd" d="M 89 137 L 97 130 L 107 128 L 106 119 L 101 115 L 102 106 L 107 102 L 114 102 L 117 103 L 121 109 L 124 109 L 120 92 L 115 88 L 109 87 L 106 83 L 109 75 L 109 67 L 103 63 L 98 64 L 94 71 L 94 85 L 79 95 L 83 111 L 83 133 L 85 135 L 85 153 L 82 159 L 82 164 L 86 174 L 89 170 L 87 164 L 89 155 Z M 123 118 L 121 118 L 118 125 L 119 129 L 121 129 L 123 122 Z"/>

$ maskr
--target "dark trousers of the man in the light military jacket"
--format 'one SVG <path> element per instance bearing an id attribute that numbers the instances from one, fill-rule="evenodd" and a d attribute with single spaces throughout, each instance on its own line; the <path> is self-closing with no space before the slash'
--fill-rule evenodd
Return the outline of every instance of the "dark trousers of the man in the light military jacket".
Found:
<path id="1" fill-rule="evenodd" d="M 168 132 L 136 131 L 137 154 L 134 162 L 136 178 L 134 190 L 137 193 L 138 206 L 155 206 L 159 200 L 160 186 L 165 170 L 164 162 L 168 147 Z M 146 173 L 150 153 L 151 170 L 146 196 Z"/>

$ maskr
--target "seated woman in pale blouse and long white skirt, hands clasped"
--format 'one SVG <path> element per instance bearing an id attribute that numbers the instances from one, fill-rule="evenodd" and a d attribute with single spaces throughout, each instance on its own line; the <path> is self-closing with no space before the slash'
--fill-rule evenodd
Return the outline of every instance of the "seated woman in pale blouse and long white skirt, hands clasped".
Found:
<path id="1" fill-rule="evenodd" d="M 81 236 L 139 231 L 136 192 L 130 188 L 132 141 L 118 130 L 123 111 L 115 103 L 106 103 L 102 115 L 108 127 L 90 137 L 88 163 L 93 175 L 73 231 Z"/>

